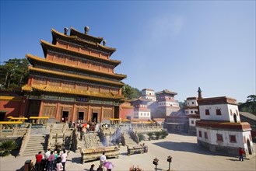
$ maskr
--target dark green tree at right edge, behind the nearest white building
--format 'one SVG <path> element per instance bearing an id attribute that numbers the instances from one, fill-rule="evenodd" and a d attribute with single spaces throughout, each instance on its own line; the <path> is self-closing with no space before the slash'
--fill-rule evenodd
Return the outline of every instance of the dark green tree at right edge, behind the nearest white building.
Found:
<path id="1" fill-rule="evenodd" d="M 240 111 L 256 115 L 256 95 L 247 96 L 246 102 L 238 105 Z"/>

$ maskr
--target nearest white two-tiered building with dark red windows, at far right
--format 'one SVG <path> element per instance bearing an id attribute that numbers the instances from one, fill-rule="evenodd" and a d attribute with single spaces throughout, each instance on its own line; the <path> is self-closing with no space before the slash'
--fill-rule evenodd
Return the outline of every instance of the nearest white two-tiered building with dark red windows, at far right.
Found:
<path id="1" fill-rule="evenodd" d="M 198 99 L 200 119 L 196 121 L 198 145 L 212 152 L 238 155 L 244 148 L 246 156 L 254 155 L 251 125 L 240 122 L 237 100 L 226 96 Z"/>

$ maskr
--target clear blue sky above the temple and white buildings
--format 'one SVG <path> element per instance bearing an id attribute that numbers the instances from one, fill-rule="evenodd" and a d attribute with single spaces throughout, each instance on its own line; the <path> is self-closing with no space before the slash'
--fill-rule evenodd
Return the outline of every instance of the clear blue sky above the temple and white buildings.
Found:
<path id="1" fill-rule="evenodd" d="M 65 27 L 104 37 L 116 73 L 138 89 L 197 96 L 255 94 L 255 1 L 1 1 L 1 64 L 44 57 L 40 40 Z M 68 32 L 69 33 L 69 32 Z"/>

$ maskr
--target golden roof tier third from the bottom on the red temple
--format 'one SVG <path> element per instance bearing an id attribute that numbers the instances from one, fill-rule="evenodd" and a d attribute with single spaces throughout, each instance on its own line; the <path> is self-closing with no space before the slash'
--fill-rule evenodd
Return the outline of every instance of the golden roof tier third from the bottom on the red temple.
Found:
<path id="1" fill-rule="evenodd" d="M 36 55 L 32 55 L 32 54 L 26 54 L 26 58 L 28 60 L 32 59 L 32 60 L 35 60 L 35 61 L 42 61 L 42 62 L 46 62 L 48 64 L 60 65 L 62 67 L 79 68 L 79 69 L 84 70 L 86 72 L 94 72 L 94 73 L 102 74 L 102 75 L 110 75 L 110 76 L 114 76 L 118 79 L 125 79 L 127 77 L 127 75 L 121 75 L 121 74 L 115 74 L 115 73 L 112 74 L 112 73 L 107 73 L 107 72 L 98 72 L 98 71 L 89 70 L 87 68 L 79 67 L 79 66 L 75 66 L 75 65 L 66 65 L 66 64 L 63 64 L 63 63 L 55 62 L 55 61 L 48 61 L 45 58 L 39 58 Z"/>

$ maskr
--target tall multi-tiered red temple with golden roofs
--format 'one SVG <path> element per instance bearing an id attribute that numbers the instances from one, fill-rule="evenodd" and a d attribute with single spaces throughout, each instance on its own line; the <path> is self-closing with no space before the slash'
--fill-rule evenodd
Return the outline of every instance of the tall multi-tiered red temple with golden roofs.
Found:
<path id="1" fill-rule="evenodd" d="M 51 30 L 52 43 L 40 40 L 44 58 L 26 54 L 31 66 L 25 92 L 26 117 L 46 116 L 55 121 L 103 121 L 119 117 L 122 79 L 114 73 L 121 61 L 110 59 L 115 48 L 102 37 L 70 28 L 65 33 Z M 103 44 L 101 44 L 103 43 Z"/>

